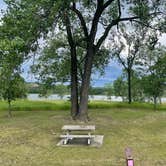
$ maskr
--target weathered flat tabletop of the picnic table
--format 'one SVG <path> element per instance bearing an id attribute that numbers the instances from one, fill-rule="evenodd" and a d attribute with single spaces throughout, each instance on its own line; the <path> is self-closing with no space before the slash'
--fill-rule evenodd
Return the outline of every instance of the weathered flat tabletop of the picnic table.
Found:
<path id="1" fill-rule="evenodd" d="M 95 130 L 94 125 L 64 125 L 62 130 L 70 130 L 70 131 L 93 131 Z"/>

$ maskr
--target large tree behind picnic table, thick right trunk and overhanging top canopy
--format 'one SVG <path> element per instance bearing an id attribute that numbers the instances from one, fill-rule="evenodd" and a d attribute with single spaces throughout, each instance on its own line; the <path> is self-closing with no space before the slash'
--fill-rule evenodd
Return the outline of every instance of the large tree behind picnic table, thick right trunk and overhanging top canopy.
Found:
<path id="1" fill-rule="evenodd" d="M 160 3 L 163 3 L 160 1 L 151 2 L 150 0 L 128 0 L 125 2 L 120 0 L 8 0 L 7 2 L 9 7 L 5 18 L 8 18 L 6 19 L 7 21 L 10 18 L 10 22 L 14 22 L 12 21 L 14 15 L 14 18 L 18 20 L 16 23 L 16 27 L 18 28 L 17 35 L 23 37 L 27 36 L 26 33 L 23 35 L 22 31 L 19 31 L 22 27 L 24 27 L 23 31 L 28 31 L 28 37 L 24 37 L 25 41 L 27 41 L 26 43 L 28 43 L 26 45 L 28 46 L 28 51 L 32 50 L 32 48 L 37 45 L 36 42 L 42 37 L 43 34 L 47 34 L 48 31 L 51 31 L 52 29 L 53 31 L 55 30 L 54 27 L 57 23 L 56 18 L 60 18 L 58 20 L 59 24 L 64 22 L 64 20 L 66 23 L 68 42 L 71 46 L 71 58 L 75 57 L 75 59 L 73 59 L 75 64 L 76 56 L 74 56 L 74 54 L 76 52 L 76 40 L 70 32 L 73 30 L 72 27 L 80 27 L 80 34 L 83 34 L 82 41 L 85 45 L 85 58 L 83 63 L 80 105 L 77 117 L 82 120 L 86 120 L 88 117 L 88 90 L 94 60 L 96 59 L 97 53 L 99 52 L 101 46 L 104 44 L 105 39 L 109 35 L 110 30 L 120 22 L 138 20 L 143 24 L 150 23 L 156 18 L 157 14 L 161 16 L 162 13 L 159 11 L 161 9 Z M 23 22 L 25 24 L 23 24 Z M 28 22 L 28 24 L 26 22 Z M 23 26 L 21 26 L 22 24 Z M 28 28 L 26 27 L 27 25 Z M 32 37 L 32 40 L 28 40 L 30 37 Z M 74 69 L 74 66 L 76 67 L 77 64 L 73 65 L 71 73 L 73 81 L 76 82 L 77 68 Z M 72 87 L 75 87 L 75 85 Z"/>

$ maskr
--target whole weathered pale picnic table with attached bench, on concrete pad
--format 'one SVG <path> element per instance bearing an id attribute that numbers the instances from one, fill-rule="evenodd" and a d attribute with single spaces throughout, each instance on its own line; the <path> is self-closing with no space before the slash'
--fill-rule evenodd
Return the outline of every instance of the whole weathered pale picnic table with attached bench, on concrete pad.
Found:
<path id="1" fill-rule="evenodd" d="M 91 135 L 91 132 L 95 131 L 94 125 L 65 125 L 62 127 L 62 130 L 65 131 L 65 134 L 60 135 L 60 138 L 64 139 L 64 145 L 73 138 L 86 138 L 89 145 L 91 143 L 91 139 L 95 137 L 94 135 Z M 79 134 L 74 133 L 75 131 L 79 132 Z"/>

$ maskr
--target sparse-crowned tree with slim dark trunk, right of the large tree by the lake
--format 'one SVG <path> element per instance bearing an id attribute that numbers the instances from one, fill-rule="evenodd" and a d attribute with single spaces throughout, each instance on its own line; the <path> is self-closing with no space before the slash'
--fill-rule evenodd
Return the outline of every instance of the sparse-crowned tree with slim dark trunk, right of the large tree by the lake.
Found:
<path id="1" fill-rule="evenodd" d="M 157 31 L 143 27 L 138 23 L 122 24 L 111 43 L 113 57 L 123 66 L 127 74 L 128 102 L 132 102 L 132 77 L 134 67 L 142 60 L 141 51 L 145 45 L 157 42 Z"/>

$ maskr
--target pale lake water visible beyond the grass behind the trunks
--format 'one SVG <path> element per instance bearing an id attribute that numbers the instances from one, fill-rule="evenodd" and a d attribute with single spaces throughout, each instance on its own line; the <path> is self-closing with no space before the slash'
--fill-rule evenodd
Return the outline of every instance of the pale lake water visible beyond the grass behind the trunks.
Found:
<path id="1" fill-rule="evenodd" d="M 39 94 L 29 94 L 28 95 L 28 100 L 69 100 L 70 95 L 64 95 L 62 98 L 57 95 L 57 94 L 53 94 L 46 97 L 39 97 Z M 111 96 L 111 99 L 107 96 L 104 95 L 91 95 L 89 96 L 90 100 L 103 100 L 103 101 L 122 101 L 121 97 L 116 97 L 116 96 Z M 163 103 L 166 103 L 166 97 L 163 97 L 161 99 L 161 101 Z"/>

